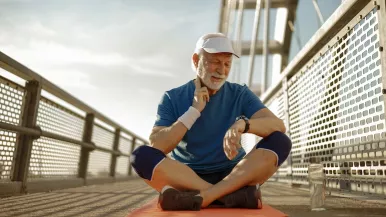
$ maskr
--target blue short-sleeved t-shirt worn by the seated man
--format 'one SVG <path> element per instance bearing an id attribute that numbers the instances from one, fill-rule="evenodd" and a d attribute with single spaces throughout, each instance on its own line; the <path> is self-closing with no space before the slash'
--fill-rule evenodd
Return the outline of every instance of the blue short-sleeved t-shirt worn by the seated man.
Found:
<path id="1" fill-rule="evenodd" d="M 166 91 L 158 105 L 155 126 L 171 126 L 193 103 L 194 81 Z M 210 96 L 201 116 L 187 131 L 182 141 L 172 151 L 172 157 L 198 173 L 226 170 L 244 156 L 243 148 L 229 160 L 223 149 L 225 133 L 238 116 L 250 118 L 265 108 L 261 100 L 246 85 L 225 82 L 221 89 Z"/>

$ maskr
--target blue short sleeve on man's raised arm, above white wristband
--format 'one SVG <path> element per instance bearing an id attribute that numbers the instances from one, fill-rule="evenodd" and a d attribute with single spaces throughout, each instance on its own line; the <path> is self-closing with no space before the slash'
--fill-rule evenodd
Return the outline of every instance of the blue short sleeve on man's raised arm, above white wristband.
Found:
<path id="1" fill-rule="evenodd" d="M 172 102 L 170 96 L 167 92 L 161 98 L 161 101 L 158 104 L 157 109 L 157 118 L 154 123 L 154 126 L 171 126 L 177 119 L 175 118 L 173 112 Z"/>

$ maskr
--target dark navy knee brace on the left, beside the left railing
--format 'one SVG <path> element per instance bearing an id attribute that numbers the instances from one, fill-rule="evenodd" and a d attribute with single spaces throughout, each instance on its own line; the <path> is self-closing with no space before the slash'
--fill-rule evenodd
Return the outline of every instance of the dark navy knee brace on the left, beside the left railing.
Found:
<path id="1" fill-rule="evenodd" d="M 166 155 L 153 147 L 143 145 L 136 148 L 130 156 L 131 166 L 143 178 L 151 181 L 154 169 Z"/>

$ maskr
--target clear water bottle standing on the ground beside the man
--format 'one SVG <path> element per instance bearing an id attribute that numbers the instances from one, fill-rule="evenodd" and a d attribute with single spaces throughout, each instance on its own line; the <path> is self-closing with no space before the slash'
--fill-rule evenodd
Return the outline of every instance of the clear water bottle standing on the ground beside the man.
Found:
<path id="1" fill-rule="evenodd" d="M 312 211 L 325 210 L 326 181 L 323 165 L 319 158 L 310 159 L 308 166 L 308 179 L 310 183 L 310 206 Z"/>

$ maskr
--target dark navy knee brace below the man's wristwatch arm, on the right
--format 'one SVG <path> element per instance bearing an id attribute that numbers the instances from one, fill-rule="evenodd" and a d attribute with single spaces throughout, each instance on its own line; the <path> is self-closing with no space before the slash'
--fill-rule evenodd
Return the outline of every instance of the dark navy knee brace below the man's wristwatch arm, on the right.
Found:
<path id="1" fill-rule="evenodd" d="M 256 145 L 256 149 L 265 149 L 274 152 L 277 156 L 277 166 L 280 166 L 290 154 L 292 142 L 284 133 L 275 131 L 260 140 Z"/>

